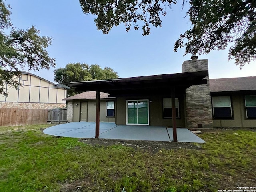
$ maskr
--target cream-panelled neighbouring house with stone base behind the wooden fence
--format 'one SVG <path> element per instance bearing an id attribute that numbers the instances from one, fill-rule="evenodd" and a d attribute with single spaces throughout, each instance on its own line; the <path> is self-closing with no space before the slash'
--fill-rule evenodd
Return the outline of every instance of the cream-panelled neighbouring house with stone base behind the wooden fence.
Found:
<path id="1" fill-rule="evenodd" d="M 29 72 L 22 72 L 18 90 L 6 85 L 8 96 L 0 94 L 0 108 L 52 109 L 66 107 L 68 86 L 55 84 Z"/>

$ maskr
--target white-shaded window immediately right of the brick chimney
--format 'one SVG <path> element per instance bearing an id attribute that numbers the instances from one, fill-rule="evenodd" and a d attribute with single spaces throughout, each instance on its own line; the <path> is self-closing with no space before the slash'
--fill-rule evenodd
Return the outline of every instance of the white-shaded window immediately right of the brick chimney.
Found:
<path id="1" fill-rule="evenodd" d="M 212 97 L 212 108 L 214 118 L 232 118 L 230 96 Z"/>

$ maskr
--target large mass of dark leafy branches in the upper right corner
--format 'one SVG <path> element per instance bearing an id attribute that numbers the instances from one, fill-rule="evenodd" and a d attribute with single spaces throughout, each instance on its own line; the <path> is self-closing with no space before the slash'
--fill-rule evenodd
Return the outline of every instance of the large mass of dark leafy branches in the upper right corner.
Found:
<path id="1" fill-rule="evenodd" d="M 175 42 L 174 50 L 184 45 L 186 52 L 208 54 L 224 50 L 229 43 L 228 59 L 244 66 L 256 58 L 256 2 L 254 0 L 191 0 L 188 15 L 193 28 Z"/>

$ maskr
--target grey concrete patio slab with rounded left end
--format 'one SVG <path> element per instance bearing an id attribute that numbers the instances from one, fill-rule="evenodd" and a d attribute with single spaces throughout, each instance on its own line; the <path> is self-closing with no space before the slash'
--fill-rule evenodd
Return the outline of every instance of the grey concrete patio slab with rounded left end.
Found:
<path id="1" fill-rule="evenodd" d="M 49 127 L 43 131 L 45 134 L 74 137 L 94 138 L 94 122 L 71 122 Z M 116 125 L 114 123 L 100 122 L 100 134 L 98 138 L 117 140 L 148 140 L 148 141 L 173 141 L 172 128 L 163 126 L 135 126 Z M 200 137 L 185 128 L 177 128 L 178 142 L 204 143 Z"/>

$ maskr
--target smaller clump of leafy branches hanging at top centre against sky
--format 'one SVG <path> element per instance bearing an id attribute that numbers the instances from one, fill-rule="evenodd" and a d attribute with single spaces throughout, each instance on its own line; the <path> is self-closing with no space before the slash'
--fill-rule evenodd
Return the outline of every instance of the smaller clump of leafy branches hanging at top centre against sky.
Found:
<path id="1" fill-rule="evenodd" d="M 143 22 L 143 35 L 150 34 L 150 25 L 161 27 L 160 16 L 166 15 L 166 7 L 177 0 L 79 0 L 85 14 L 91 13 L 97 16 L 94 20 L 98 30 L 108 34 L 113 26 L 125 24 L 126 31 L 138 30 L 138 22 Z"/>

